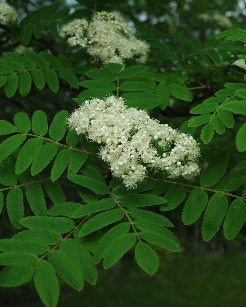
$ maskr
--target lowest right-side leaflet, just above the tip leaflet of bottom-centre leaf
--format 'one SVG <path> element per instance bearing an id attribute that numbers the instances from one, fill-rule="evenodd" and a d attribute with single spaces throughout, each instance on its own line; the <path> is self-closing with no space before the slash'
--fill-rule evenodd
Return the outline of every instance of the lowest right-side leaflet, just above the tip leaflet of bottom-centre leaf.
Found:
<path id="1" fill-rule="evenodd" d="M 151 244 L 165 248 L 168 251 L 174 251 L 178 253 L 180 252 L 179 245 L 173 240 L 162 235 L 161 233 L 158 234 L 158 233 L 153 233 L 149 231 L 140 231 L 138 232 L 138 235 L 141 237 L 141 239 Z"/>

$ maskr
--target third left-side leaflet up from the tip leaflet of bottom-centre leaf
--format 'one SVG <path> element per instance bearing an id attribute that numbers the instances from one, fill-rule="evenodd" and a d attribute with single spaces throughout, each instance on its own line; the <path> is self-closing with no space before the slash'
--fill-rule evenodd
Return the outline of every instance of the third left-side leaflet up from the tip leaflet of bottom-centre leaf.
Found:
<path id="1" fill-rule="evenodd" d="M 124 212 L 121 209 L 111 209 L 93 216 L 82 227 L 79 232 L 79 237 L 88 235 L 89 233 L 118 222 L 124 217 Z"/>

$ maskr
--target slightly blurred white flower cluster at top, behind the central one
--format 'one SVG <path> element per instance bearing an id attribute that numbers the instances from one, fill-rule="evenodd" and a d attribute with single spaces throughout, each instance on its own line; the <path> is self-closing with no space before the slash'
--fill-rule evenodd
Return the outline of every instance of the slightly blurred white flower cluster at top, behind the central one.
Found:
<path id="1" fill-rule="evenodd" d="M 138 63 L 145 63 L 149 46 L 137 39 L 132 28 L 116 12 L 97 12 L 90 23 L 85 19 L 75 19 L 60 29 L 60 37 L 70 36 L 72 46 L 87 47 L 91 56 L 104 63 L 124 64 L 124 59 L 139 56 Z"/>

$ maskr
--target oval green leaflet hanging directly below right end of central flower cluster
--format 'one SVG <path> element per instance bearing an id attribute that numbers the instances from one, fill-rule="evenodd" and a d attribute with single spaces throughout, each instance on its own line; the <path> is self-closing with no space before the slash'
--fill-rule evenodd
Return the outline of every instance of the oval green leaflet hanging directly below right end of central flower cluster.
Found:
<path id="1" fill-rule="evenodd" d="M 190 225 L 202 214 L 208 203 L 208 195 L 201 188 L 195 188 L 191 191 L 182 212 L 182 220 L 185 225 Z"/>

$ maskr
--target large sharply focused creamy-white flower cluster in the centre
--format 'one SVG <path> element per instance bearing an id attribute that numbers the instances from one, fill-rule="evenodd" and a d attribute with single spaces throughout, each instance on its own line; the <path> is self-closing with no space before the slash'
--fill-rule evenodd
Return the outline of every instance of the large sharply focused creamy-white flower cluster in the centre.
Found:
<path id="1" fill-rule="evenodd" d="M 69 128 L 98 144 L 112 174 L 134 188 L 147 175 L 146 167 L 164 170 L 169 178 L 192 179 L 200 173 L 196 164 L 199 146 L 188 134 L 150 119 L 147 112 L 128 109 L 122 98 L 91 99 L 67 119 Z M 153 142 L 158 141 L 159 153 Z M 172 149 L 171 143 L 174 144 Z"/>

